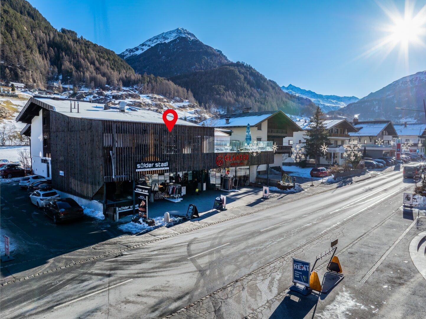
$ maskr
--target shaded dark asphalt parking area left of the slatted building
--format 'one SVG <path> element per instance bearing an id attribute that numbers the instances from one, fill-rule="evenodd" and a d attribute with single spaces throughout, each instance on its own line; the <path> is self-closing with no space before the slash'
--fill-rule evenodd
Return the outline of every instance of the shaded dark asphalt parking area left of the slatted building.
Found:
<path id="1" fill-rule="evenodd" d="M 29 200 L 26 189 L 18 186 L 20 178 L 8 183 L 1 180 L 1 235 L 10 237 L 13 262 L 39 258 L 45 260 L 80 247 L 123 235 L 108 221 L 85 216 L 84 219 L 55 225 Z M 0 246 L 3 245 L 3 240 Z M 4 247 L 2 247 L 2 250 Z"/>

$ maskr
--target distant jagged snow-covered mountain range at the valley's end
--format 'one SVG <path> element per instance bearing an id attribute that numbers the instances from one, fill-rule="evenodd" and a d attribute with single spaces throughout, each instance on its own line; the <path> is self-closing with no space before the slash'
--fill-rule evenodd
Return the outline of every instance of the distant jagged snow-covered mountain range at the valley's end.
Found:
<path id="1" fill-rule="evenodd" d="M 321 107 L 321 110 L 324 112 L 339 110 L 349 103 L 359 101 L 356 96 L 322 95 L 312 92 L 311 90 L 303 90 L 300 87 L 295 87 L 291 84 L 288 87 L 282 86 L 281 90 L 296 96 L 311 99 L 312 102 Z"/>

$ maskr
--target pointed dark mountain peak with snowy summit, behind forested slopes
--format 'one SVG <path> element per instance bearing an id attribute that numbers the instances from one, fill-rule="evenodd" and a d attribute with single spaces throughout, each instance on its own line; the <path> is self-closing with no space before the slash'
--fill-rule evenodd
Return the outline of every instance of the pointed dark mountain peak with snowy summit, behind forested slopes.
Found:
<path id="1" fill-rule="evenodd" d="M 222 51 L 208 46 L 186 29 L 161 33 L 119 56 L 140 74 L 166 78 L 230 63 Z"/>

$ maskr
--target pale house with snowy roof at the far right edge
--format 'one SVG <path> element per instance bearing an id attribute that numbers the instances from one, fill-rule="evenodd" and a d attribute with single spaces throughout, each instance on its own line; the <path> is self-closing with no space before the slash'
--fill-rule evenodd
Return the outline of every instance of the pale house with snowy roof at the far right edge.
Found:
<path id="1" fill-rule="evenodd" d="M 394 124 L 394 128 L 402 144 L 410 141 L 412 142 L 409 148 L 401 149 L 402 153 L 409 153 L 408 155 L 425 155 L 426 123 L 404 122 L 401 124 Z M 396 139 L 394 139 L 394 145 L 396 145 Z"/>

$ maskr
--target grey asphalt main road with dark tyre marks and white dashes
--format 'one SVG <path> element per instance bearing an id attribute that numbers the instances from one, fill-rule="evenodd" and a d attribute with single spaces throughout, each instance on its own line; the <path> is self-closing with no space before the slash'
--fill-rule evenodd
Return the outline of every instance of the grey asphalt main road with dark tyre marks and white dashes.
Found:
<path id="1" fill-rule="evenodd" d="M 335 238 L 342 247 L 351 244 L 387 217 L 396 216 L 401 193 L 414 186 L 410 180 L 403 182 L 401 175 L 399 171 L 384 174 L 166 238 L 118 258 L 9 284 L 1 289 L 2 318 L 161 318 L 292 250 L 297 249 L 297 257 L 313 261 Z M 370 249 L 386 251 L 392 243 L 384 241 Z M 371 259 L 368 265 L 380 256 L 366 256 Z M 264 278 L 259 278 L 239 300 L 229 296 L 216 309 L 216 317 L 242 318 L 285 290 L 291 283 L 290 267 L 262 284 Z"/>

